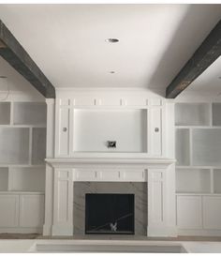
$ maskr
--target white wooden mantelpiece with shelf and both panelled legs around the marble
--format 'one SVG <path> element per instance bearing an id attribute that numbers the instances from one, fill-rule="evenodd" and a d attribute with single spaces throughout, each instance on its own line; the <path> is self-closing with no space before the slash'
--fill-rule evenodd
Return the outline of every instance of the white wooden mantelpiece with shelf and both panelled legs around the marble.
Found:
<path id="1" fill-rule="evenodd" d="M 53 168 L 52 235 L 73 235 L 77 182 L 146 182 L 148 236 L 176 236 L 174 159 L 48 158 Z"/>

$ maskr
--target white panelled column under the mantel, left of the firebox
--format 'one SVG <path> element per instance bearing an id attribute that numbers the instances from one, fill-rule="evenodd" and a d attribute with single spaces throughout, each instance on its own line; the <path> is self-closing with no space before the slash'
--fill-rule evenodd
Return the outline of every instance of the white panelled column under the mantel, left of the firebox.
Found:
<path id="1" fill-rule="evenodd" d="M 73 234 L 73 170 L 54 168 L 52 235 Z"/>

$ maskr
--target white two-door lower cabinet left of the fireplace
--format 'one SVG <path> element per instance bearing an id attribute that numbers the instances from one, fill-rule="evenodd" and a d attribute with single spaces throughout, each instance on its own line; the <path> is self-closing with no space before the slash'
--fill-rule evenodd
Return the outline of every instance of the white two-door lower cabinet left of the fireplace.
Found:
<path id="1" fill-rule="evenodd" d="M 0 194 L 0 231 L 8 228 L 42 228 L 43 194 Z M 14 231 L 15 229 L 13 229 Z"/>

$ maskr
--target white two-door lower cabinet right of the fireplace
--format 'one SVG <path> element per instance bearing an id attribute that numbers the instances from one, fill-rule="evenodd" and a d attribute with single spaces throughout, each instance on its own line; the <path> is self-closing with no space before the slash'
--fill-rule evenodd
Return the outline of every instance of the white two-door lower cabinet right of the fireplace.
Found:
<path id="1" fill-rule="evenodd" d="M 178 230 L 221 231 L 221 196 L 177 195 L 176 203 Z"/>

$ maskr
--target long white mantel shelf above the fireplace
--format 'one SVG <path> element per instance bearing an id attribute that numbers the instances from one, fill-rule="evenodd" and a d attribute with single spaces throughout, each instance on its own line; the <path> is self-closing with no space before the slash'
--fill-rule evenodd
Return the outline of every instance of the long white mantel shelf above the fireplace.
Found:
<path id="1" fill-rule="evenodd" d="M 78 164 L 141 165 L 144 167 L 167 167 L 175 162 L 174 158 L 46 158 L 52 167 L 75 166 Z"/>

